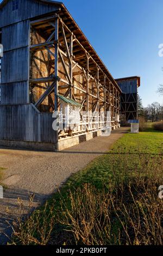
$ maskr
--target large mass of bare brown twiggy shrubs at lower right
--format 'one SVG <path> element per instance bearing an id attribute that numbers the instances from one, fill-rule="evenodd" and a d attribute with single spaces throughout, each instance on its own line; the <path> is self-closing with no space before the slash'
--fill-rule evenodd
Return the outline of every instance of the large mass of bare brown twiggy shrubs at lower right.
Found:
<path id="1" fill-rule="evenodd" d="M 162 245 L 163 202 L 157 189 L 146 178 L 100 192 L 85 184 L 70 193 L 71 210 L 61 223 L 77 245 Z"/>

